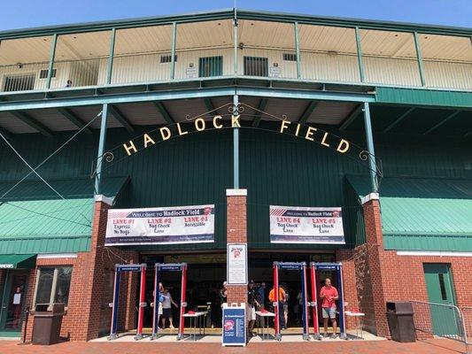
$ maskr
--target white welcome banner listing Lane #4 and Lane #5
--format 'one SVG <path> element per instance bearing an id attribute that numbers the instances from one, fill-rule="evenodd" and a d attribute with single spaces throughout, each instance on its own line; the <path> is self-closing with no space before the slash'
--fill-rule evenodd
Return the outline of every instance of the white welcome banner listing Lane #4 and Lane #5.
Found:
<path id="1" fill-rule="evenodd" d="M 269 210 L 271 243 L 345 243 L 339 207 L 271 205 Z"/>

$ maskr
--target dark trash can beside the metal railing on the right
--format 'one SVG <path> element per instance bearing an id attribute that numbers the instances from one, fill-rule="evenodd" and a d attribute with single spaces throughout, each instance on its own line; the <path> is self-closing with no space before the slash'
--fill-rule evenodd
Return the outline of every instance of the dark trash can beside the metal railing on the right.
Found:
<path id="1" fill-rule="evenodd" d="M 387 320 L 393 341 L 416 341 L 413 314 L 413 305 L 409 302 L 387 303 Z"/>

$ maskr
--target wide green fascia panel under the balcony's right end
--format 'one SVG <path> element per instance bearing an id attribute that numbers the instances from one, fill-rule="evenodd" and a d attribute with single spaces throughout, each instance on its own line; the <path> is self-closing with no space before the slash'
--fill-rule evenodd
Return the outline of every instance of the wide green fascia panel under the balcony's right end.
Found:
<path id="1" fill-rule="evenodd" d="M 375 103 L 472 108 L 472 92 L 377 87 Z"/>

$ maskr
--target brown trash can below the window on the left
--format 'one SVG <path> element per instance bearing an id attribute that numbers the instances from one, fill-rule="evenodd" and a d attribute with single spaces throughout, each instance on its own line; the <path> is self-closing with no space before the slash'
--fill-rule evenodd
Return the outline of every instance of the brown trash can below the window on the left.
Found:
<path id="1" fill-rule="evenodd" d="M 36 304 L 33 322 L 33 344 L 50 345 L 59 342 L 64 304 Z"/>

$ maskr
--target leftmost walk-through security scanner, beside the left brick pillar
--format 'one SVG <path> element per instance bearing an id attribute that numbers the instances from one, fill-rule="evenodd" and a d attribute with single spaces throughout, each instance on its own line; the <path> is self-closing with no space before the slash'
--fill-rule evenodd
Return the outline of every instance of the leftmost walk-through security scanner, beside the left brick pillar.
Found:
<path id="1" fill-rule="evenodd" d="M 118 327 L 118 307 L 120 303 L 120 278 L 123 272 L 138 272 L 141 273 L 141 285 L 139 289 L 139 310 L 137 319 L 137 329 L 135 340 L 143 338 L 143 315 L 144 307 L 146 306 L 144 299 L 144 290 L 146 289 L 146 264 L 141 265 L 115 265 L 115 281 L 113 287 L 113 302 L 110 304 L 112 307 L 112 326 L 110 329 L 109 340 L 116 339 L 117 327 Z"/>

